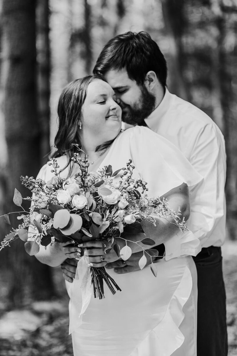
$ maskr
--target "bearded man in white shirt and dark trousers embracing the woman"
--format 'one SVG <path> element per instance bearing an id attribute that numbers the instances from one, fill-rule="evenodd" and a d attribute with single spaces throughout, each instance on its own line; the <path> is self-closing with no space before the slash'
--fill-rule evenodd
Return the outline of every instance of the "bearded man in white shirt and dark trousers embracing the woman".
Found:
<path id="1" fill-rule="evenodd" d="M 146 32 L 127 32 L 112 38 L 99 55 L 93 73 L 101 74 L 114 89 L 125 123 L 146 125 L 167 138 L 204 178 L 190 190 L 189 229 L 202 245 L 193 258 L 198 272 L 197 350 L 198 356 L 226 356 L 226 297 L 220 248 L 225 240 L 226 155 L 222 133 L 203 111 L 169 93 L 165 58 Z M 125 267 L 123 261 L 107 266 L 117 273 L 127 273 L 139 269 L 139 259 L 140 252 L 133 254 Z M 62 266 L 64 278 L 69 281 L 75 274 L 72 264 L 67 260 Z"/>

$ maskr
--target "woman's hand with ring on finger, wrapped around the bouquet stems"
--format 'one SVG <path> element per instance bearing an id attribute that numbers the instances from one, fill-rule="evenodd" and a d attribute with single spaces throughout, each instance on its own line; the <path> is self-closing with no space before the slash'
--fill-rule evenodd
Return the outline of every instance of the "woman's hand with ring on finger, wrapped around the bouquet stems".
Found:
<path id="1" fill-rule="evenodd" d="M 108 262 L 114 262 L 119 259 L 113 248 L 109 253 L 104 253 L 103 243 L 100 240 L 83 242 L 78 246 L 88 248 L 90 266 L 93 267 L 104 267 Z"/>

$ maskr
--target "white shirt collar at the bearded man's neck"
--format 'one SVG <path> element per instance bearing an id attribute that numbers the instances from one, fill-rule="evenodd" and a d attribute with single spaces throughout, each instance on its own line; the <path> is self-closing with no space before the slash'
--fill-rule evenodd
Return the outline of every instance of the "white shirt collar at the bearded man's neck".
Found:
<path id="1" fill-rule="evenodd" d="M 155 130 L 157 128 L 158 121 L 165 116 L 167 110 L 170 107 L 172 100 L 172 94 L 169 93 L 168 89 L 165 90 L 165 95 L 161 100 L 160 104 L 152 111 L 152 113 L 145 119 L 146 125 L 151 129 Z"/>

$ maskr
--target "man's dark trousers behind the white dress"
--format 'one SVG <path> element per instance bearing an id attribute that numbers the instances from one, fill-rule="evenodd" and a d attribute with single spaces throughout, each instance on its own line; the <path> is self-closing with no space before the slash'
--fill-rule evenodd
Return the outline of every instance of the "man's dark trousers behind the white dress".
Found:
<path id="1" fill-rule="evenodd" d="M 198 356 L 227 356 L 226 293 L 220 247 L 193 257 L 198 272 Z"/>

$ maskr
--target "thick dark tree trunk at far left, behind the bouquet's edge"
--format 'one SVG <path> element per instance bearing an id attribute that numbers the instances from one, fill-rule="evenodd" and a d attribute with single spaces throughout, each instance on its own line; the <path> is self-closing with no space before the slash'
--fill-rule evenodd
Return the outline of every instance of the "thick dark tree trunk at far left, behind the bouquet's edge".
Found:
<path id="1" fill-rule="evenodd" d="M 36 110 L 36 2 L 33 0 L 3 0 L 3 68 L 5 90 L 5 136 L 7 144 L 7 201 L 12 201 L 14 189 L 22 192 L 21 175 L 36 176 L 41 165 L 41 129 Z M 8 211 L 18 211 L 9 203 Z M 11 223 L 16 227 L 17 220 Z M 15 241 L 9 250 L 11 271 L 9 302 L 19 307 L 29 297 L 49 298 L 52 279 L 48 266 L 30 257 L 22 241 Z"/>

